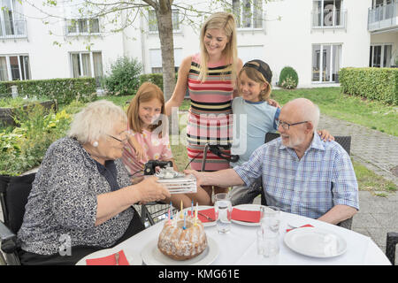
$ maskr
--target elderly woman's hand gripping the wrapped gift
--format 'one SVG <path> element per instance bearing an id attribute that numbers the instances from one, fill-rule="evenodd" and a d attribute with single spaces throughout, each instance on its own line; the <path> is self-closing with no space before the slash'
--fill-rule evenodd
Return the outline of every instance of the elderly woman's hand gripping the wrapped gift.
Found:
<path id="1" fill-rule="evenodd" d="M 158 183 L 155 176 L 142 180 L 142 182 L 135 186 L 140 192 L 141 203 L 156 202 L 171 196 L 169 190 Z"/>

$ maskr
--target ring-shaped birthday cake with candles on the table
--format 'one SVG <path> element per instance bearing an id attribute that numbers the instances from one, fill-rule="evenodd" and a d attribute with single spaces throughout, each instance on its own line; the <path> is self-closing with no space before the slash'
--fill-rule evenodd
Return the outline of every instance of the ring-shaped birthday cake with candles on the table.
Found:
<path id="1" fill-rule="evenodd" d="M 159 234 L 157 248 L 175 260 L 187 260 L 199 256 L 207 247 L 206 233 L 202 222 L 187 217 L 165 220 L 165 226 Z"/>

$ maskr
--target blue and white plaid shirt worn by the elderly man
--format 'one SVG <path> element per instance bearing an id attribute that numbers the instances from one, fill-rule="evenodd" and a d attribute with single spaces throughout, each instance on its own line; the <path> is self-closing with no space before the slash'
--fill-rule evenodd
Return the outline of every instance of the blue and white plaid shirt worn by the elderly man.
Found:
<path id="1" fill-rule="evenodd" d="M 319 218 L 336 204 L 359 210 L 358 184 L 348 153 L 337 142 L 322 142 L 318 134 L 300 160 L 278 138 L 233 169 L 248 187 L 262 177 L 267 205 L 283 211 Z"/>

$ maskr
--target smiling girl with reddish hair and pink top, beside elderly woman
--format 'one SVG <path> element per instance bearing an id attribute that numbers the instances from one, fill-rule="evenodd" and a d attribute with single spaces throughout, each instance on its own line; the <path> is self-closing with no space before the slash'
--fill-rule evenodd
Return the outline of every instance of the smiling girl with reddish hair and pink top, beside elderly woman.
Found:
<path id="1" fill-rule="evenodd" d="M 149 160 L 172 161 L 175 171 L 177 166 L 172 158 L 168 123 L 162 121 L 165 116 L 165 98 L 157 85 L 144 82 L 131 101 L 128 110 L 128 130 L 130 136 L 123 151 L 122 160 L 134 180 L 143 175 L 145 164 Z M 140 178 L 138 178 L 139 180 Z M 210 197 L 203 188 L 198 187 L 196 194 L 177 194 L 166 199 L 174 207 L 190 207 L 192 200 L 200 205 L 208 205 Z"/>

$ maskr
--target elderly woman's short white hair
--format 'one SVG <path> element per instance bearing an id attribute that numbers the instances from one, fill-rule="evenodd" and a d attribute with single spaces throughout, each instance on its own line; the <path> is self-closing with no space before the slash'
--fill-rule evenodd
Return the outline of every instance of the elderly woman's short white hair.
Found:
<path id="1" fill-rule="evenodd" d="M 81 143 L 98 141 L 102 136 L 113 133 L 115 124 L 127 123 L 125 111 L 107 100 L 88 103 L 74 115 L 67 136 Z"/>

